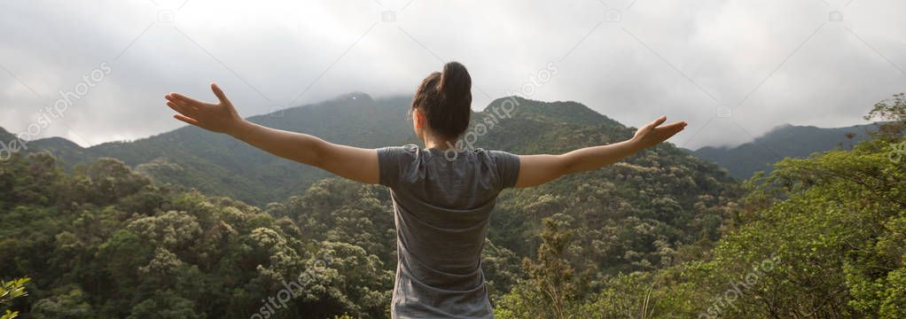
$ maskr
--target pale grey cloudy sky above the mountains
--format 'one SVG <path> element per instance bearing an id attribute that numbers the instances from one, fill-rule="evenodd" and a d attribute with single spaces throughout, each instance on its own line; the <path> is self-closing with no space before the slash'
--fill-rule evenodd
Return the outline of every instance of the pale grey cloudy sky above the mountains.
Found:
<path id="1" fill-rule="evenodd" d="M 28 130 L 61 91 L 81 90 L 34 136 L 87 146 L 178 128 L 162 96 L 212 99 L 209 82 L 250 116 L 353 91 L 411 94 L 449 60 L 472 73 L 476 110 L 553 65 L 529 98 L 632 126 L 689 121 L 672 141 L 692 149 L 783 123 L 863 123 L 906 92 L 901 0 L 86 3 L 2 1 L 7 131 Z"/>

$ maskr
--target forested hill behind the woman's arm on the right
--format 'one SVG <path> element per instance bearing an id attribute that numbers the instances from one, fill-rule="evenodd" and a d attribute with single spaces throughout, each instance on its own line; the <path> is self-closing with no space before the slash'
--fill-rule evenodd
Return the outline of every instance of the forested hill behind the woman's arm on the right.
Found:
<path id="1" fill-rule="evenodd" d="M 578 103 L 515 99 L 515 115 L 477 146 L 559 153 L 625 140 L 634 131 Z M 600 288 L 606 275 L 670 266 L 689 257 L 673 252 L 716 240 L 740 195 L 722 169 L 665 143 L 610 167 L 502 193 L 488 237 L 517 256 L 535 256 L 541 220 L 569 216 L 576 242 L 570 261 L 577 271 L 596 274 L 589 285 Z"/>

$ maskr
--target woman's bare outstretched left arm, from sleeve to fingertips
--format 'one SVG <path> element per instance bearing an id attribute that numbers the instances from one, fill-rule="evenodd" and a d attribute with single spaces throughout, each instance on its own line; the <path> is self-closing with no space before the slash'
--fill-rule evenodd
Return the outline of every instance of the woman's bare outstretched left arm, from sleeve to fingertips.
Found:
<path id="1" fill-rule="evenodd" d="M 217 103 L 200 102 L 179 93 L 166 96 L 173 118 L 208 131 L 229 134 L 268 153 L 327 170 L 347 179 L 377 184 L 375 150 L 333 144 L 308 134 L 267 128 L 239 117 L 233 103 L 217 84 L 211 84 Z"/>

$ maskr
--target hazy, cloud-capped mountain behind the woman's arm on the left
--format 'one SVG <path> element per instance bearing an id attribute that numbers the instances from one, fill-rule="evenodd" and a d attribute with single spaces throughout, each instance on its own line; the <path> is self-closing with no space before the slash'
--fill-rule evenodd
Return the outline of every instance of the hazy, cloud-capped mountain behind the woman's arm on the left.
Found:
<path id="1" fill-rule="evenodd" d="M 414 139 L 411 127 L 405 125 L 409 102 L 408 97 L 371 99 L 368 94 L 352 92 L 248 120 L 280 130 L 304 131 L 333 142 L 376 148 Z M 300 193 L 315 180 L 329 175 L 256 150 L 226 135 L 191 126 L 146 139 L 90 148 L 61 138 L 34 140 L 29 143 L 29 150 L 50 151 L 69 167 L 103 157 L 114 158 L 159 182 L 259 206 Z"/>

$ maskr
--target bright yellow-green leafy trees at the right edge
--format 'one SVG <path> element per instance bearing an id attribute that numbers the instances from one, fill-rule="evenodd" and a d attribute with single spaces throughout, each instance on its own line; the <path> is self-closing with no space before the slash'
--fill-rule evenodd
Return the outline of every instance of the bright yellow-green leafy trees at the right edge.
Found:
<path id="1" fill-rule="evenodd" d="M 897 274 L 906 260 L 898 226 L 906 170 L 888 160 L 890 151 L 889 142 L 867 141 L 781 161 L 757 181 L 749 196 L 757 210 L 741 215 L 745 226 L 714 251 L 717 277 L 745 274 L 771 254 L 779 263 L 730 316 L 885 317 L 882 304 L 901 298 Z"/>

